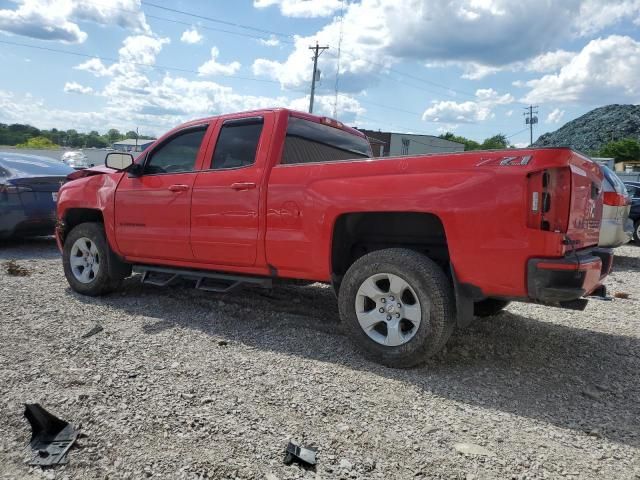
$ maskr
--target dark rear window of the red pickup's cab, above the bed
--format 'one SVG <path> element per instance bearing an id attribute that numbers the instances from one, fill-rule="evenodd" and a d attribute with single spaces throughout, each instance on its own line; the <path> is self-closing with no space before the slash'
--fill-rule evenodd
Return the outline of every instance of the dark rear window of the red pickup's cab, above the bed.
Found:
<path id="1" fill-rule="evenodd" d="M 289 117 L 283 164 L 331 162 L 371 157 L 366 138 L 321 123 Z"/>

